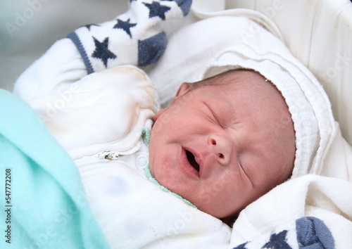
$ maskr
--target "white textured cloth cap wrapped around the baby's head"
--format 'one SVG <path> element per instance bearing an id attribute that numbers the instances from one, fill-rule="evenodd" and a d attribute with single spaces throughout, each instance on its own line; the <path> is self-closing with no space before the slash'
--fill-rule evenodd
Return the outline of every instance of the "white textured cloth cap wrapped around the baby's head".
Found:
<path id="1" fill-rule="evenodd" d="M 329 99 L 320 83 L 282 41 L 259 26 L 256 39 L 222 51 L 204 77 L 240 68 L 255 70 L 270 80 L 289 106 L 296 132 L 292 177 L 318 174 L 334 129 Z"/>

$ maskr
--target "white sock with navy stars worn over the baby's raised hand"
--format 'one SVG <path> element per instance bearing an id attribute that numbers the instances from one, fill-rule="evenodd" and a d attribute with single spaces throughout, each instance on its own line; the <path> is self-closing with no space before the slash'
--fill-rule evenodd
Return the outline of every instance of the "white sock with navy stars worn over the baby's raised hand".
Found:
<path id="1" fill-rule="evenodd" d="M 118 65 L 150 65 L 166 49 L 161 23 L 184 17 L 190 8 L 191 0 L 130 0 L 130 10 L 115 20 L 85 25 L 68 38 L 80 51 L 88 73 Z"/>

